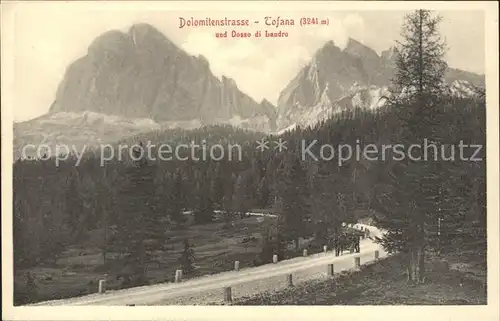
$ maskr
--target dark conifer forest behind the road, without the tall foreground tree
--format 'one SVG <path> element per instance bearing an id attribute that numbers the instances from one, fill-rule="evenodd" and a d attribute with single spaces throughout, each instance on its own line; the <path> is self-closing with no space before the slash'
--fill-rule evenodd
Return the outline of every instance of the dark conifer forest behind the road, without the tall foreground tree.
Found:
<path id="1" fill-rule="evenodd" d="M 397 172 L 396 161 L 351 159 L 339 166 L 336 158 L 302 160 L 300 150 L 302 141 L 309 145 L 313 140 L 318 141 L 310 149 L 315 155 L 319 151 L 314 148 L 322 143 L 361 147 L 394 144 L 401 128 L 395 108 L 343 112 L 313 128 L 297 128 L 281 136 L 288 146 L 281 152 L 256 151 L 254 142 L 262 136 L 226 126 L 155 132 L 129 141 L 132 145 L 205 139 L 207 144 L 216 144 L 229 137 L 232 143 L 243 146 L 241 162 L 115 160 L 100 166 L 99 155 L 91 153 L 79 166 L 74 166 L 76 159 L 59 167 L 50 159 L 18 160 L 13 180 L 15 269 L 55 264 L 67 249 L 92 241 L 108 261 L 106 272 L 125 273 L 109 262 L 123 267 L 123 260 L 133 258 L 134 262 L 125 265 L 133 267 L 127 273 L 142 278 L 147 274 L 146 263 L 168 247 L 165 232 L 182 231 L 189 216 L 194 220 L 188 224 L 203 225 L 231 222 L 251 209 L 270 209 L 280 219 L 274 232 L 264 234 L 279 237 L 269 237 L 273 241 L 263 242 L 263 248 L 277 239 L 278 243 L 293 243 L 299 237 L 324 237 L 342 221 L 371 218 L 382 226 L 388 222 L 397 225 L 407 213 L 396 210 L 393 204 L 403 202 L 403 192 L 414 186 L 411 176 Z M 449 98 L 442 116 L 439 137 L 443 145 L 458 146 L 463 141 L 485 146 L 484 100 Z M 439 211 L 430 210 L 426 216 L 428 246 L 437 246 L 439 218 L 442 250 L 470 243 L 485 251 L 485 148 L 476 157 L 482 161 L 455 157 L 453 161 L 432 162 L 439 166 L 442 184 L 436 185 Z M 418 165 L 414 166 L 414 175 L 420 175 Z M 391 180 L 401 182 L 397 193 L 391 191 Z M 304 222 L 309 222 L 310 228 L 304 228 Z M 400 225 L 392 226 L 393 230 L 405 228 Z M 391 244 L 398 250 L 398 242 Z M 275 249 L 271 246 L 270 251 Z M 187 249 L 184 261 L 192 260 L 190 253 Z M 141 278 L 135 282 L 140 284 Z M 25 284 L 20 286 L 25 288 Z"/>

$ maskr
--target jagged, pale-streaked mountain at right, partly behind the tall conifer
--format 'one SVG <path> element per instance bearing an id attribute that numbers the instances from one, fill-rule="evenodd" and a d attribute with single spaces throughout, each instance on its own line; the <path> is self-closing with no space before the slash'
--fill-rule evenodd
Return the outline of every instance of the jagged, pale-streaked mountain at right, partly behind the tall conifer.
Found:
<path id="1" fill-rule="evenodd" d="M 326 43 L 281 91 L 278 128 L 312 125 L 344 109 L 380 107 L 389 95 L 396 55 L 390 48 L 379 56 L 354 39 L 343 50 Z M 445 80 L 462 97 L 473 95 L 474 86 L 484 87 L 484 76 L 458 69 L 448 69 Z"/>

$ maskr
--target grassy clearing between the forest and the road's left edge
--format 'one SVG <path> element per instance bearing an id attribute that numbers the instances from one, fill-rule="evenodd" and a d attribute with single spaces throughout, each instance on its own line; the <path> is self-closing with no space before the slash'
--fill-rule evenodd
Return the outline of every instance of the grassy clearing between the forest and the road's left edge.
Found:
<path id="1" fill-rule="evenodd" d="M 266 219 L 271 220 L 272 219 Z M 266 222 L 258 217 L 237 219 L 234 225 L 224 223 L 191 225 L 184 229 L 166 233 L 168 249 L 159 253 L 159 264 L 148 268 L 149 284 L 173 282 L 175 270 L 180 268 L 179 258 L 183 251 L 183 241 L 188 239 L 194 250 L 195 270 L 186 279 L 202 275 L 230 271 L 234 261 L 239 260 L 241 268 L 254 266 L 254 259 L 260 252 L 258 240 Z M 97 292 L 98 281 L 107 279 L 108 289 L 120 289 L 121 280 L 112 274 L 106 277 L 108 269 L 120 270 L 113 261 L 104 262 L 99 241 L 103 231 L 95 230 L 86 242 L 67 249 L 53 264 L 43 264 L 29 269 L 15 271 L 15 304 L 26 304 L 46 300 L 56 300 L 82 296 Z M 247 237 L 253 242 L 243 243 Z M 31 272 L 36 279 L 36 293 L 26 293 L 26 273 Z"/>

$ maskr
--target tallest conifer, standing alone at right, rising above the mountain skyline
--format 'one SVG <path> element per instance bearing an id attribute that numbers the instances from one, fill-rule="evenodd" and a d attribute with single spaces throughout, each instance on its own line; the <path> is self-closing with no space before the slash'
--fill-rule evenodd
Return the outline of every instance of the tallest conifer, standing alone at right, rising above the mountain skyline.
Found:
<path id="1" fill-rule="evenodd" d="M 405 17 L 403 41 L 399 43 L 396 76 L 397 93 L 405 146 L 422 145 L 424 139 L 439 141 L 437 128 L 442 115 L 442 96 L 446 63 L 443 60 L 444 42 L 438 24 L 428 10 L 417 10 Z M 423 156 L 412 153 L 414 159 Z M 423 158 L 421 158 L 423 159 Z M 438 186 L 442 183 L 440 164 L 405 158 L 395 166 L 399 175 L 390 175 L 392 185 L 389 217 L 379 224 L 389 233 L 383 240 L 386 249 L 408 254 L 408 280 L 422 282 L 425 275 L 425 226 L 429 216 L 435 216 Z"/>

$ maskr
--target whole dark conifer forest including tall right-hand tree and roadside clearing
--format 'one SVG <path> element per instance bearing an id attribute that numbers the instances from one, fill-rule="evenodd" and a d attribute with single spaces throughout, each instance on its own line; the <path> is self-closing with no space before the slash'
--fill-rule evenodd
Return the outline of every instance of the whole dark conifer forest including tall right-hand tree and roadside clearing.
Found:
<path id="1" fill-rule="evenodd" d="M 249 267 L 273 254 L 321 252 L 342 223 L 359 221 L 387 231 L 376 242 L 404 257 L 410 284 L 425 282 L 431 252 L 471 250 L 486 260 L 485 98 L 443 90 L 438 22 L 425 10 L 407 17 L 392 83 L 405 95 L 381 108 L 280 135 L 229 125 L 153 131 L 117 142 L 106 161 L 97 150 L 60 164 L 16 160 L 15 302 L 92 293 L 102 276 L 119 289 L 172 281 L 177 269 L 194 277 L 231 270 L 235 260 Z M 279 141 L 285 147 L 275 148 Z M 140 155 L 145 145 L 158 155 L 162 144 L 193 143 L 228 148 L 223 157 L 203 148 L 170 160 Z M 342 162 L 341 145 L 353 150 Z M 370 157 L 357 153 L 370 146 Z M 255 212 L 272 215 L 248 220 Z"/>

